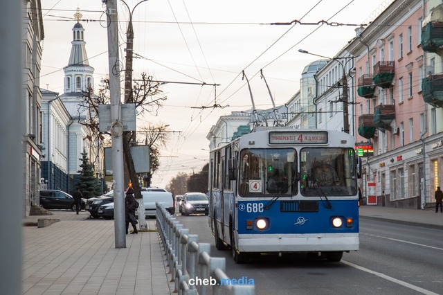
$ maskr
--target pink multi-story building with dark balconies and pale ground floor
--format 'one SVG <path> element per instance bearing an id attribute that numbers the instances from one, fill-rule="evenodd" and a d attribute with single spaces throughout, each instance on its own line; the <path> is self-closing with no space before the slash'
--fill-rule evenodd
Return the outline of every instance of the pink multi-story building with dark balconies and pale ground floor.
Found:
<path id="1" fill-rule="evenodd" d="M 437 143 L 443 130 L 428 130 L 436 116 L 428 120 L 427 114 L 437 110 L 422 96 L 423 4 L 393 1 L 370 25 L 357 29 L 346 48 L 356 60 L 356 143 L 370 143 L 374 150 L 365 159 L 363 180 L 377 184 L 383 206 L 423 208 L 435 202 L 435 179 L 440 179 L 434 161 L 441 163 Z"/>

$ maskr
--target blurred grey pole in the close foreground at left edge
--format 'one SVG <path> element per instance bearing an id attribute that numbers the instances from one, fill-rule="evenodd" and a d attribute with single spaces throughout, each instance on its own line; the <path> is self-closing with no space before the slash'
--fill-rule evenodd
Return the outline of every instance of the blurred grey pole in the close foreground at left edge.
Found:
<path id="1" fill-rule="evenodd" d="M 6 1 L 0 9 L 0 87 L 3 93 L 0 108 L 0 294 L 21 292 L 21 222 L 24 217 L 25 155 L 21 141 L 24 136 L 23 63 L 21 60 L 22 5 L 24 1 Z"/>

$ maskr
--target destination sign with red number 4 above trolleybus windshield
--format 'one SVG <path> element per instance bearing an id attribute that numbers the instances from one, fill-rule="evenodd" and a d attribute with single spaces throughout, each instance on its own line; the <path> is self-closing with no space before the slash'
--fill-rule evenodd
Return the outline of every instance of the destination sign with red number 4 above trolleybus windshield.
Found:
<path id="1" fill-rule="evenodd" d="M 327 132 L 300 132 L 300 131 L 288 131 L 288 132 L 269 132 L 270 144 L 320 144 L 327 143 Z"/>

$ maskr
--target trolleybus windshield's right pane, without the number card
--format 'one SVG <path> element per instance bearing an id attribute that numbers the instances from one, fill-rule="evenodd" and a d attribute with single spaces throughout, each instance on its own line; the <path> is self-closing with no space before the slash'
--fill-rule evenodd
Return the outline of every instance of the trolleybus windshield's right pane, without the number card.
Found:
<path id="1" fill-rule="evenodd" d="M 352 148 L 302 148 L 300 151 L 302 195 L 356 195 L 354 157 Z"/>

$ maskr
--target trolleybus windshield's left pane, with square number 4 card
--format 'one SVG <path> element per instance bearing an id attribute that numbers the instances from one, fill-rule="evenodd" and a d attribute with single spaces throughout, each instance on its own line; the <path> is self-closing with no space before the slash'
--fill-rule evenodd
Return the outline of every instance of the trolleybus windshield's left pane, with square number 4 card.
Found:
<path id="1" fill-rule="evenodd" d="M 245 149 L 240 154 L 242 197 L 296 195 L 296 150 Z"/>

